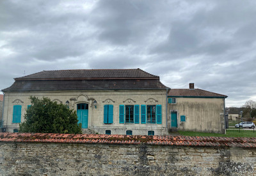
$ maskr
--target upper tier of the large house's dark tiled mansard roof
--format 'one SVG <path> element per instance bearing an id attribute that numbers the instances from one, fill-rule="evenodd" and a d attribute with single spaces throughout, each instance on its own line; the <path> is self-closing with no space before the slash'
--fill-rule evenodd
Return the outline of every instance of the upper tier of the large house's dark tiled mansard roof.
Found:
<path id="1" fill-rule="evenodd" d="M 111 69 L 111 70 L 52 70 L 41 71 L 25 77 L 15 78 L 15 80 L 23 79 L 63 79 L 63 78 L 159 78 L 146 71 L 138 69 Z"/>

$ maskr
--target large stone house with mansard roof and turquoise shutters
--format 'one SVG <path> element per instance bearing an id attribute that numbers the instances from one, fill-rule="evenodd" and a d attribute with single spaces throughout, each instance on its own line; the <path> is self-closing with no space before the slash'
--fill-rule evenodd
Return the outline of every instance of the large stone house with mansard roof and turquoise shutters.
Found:
<path id="1" fill-rule="evenodd" d="M 158 76 L 140 69 L 41 71 L 14 79 L 3 89 L 3 127 L 19 129 L 29 96 L 48 97 L 77 112 L 83 131 L 166 135 L 167 94 Z"/>

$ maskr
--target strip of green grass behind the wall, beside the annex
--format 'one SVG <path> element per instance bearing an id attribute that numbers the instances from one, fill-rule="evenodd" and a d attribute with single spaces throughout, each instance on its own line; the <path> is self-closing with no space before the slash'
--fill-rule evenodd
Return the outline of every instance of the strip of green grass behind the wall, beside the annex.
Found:
<path id="1" fill-rule="evenodd" d="M 256 130 L 253 133 L 253 130 L 244 130 L 240 129 L 227 129 L 227 134 L 218 134 L 218 133 L 200 133 L 195 131 L 179 131 L 182 136 L 216 136 L 216 137 L 247 137 L 247 138 L 256 138 Z"/>

